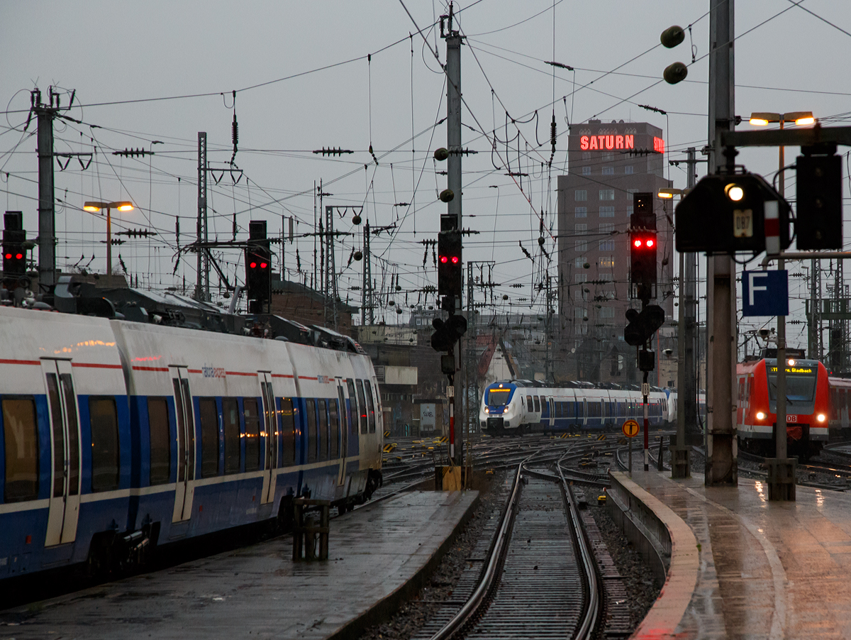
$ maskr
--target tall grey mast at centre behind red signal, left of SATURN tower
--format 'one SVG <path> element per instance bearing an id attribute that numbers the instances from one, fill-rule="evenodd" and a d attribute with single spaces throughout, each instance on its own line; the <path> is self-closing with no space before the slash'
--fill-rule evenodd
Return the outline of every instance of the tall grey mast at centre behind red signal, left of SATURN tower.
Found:
<path id="1" fill-rule="evenodd" d="M 449 201 L 447 211 L 458 218 L 458 230 L 461 231 L 461 37 L 458 31 L 450 31 L 446 37 L 446 77 L 447 77 L 447 104 L 446 104 L 446 148 L 449 151 L 447 158 L 447 186 L 453 192 L 454 197 Z M 455 312 L 461 312 L 461 300 L 455 301 Z M 464 391 L 461 376 L 458 375 L 461 368 L 461 350 L 463 344 L 458 340 L 454 349 L 455 376 L 454 376 L 454 415 L 463 411 Z M 460 405 L 457 403 L 461 403 Z M 454 422 L 450 418 L 450 425 Z M 460 465 L 464 460 L 463 438 L 460 430 L 453 432 L 455 464 Z"/>

